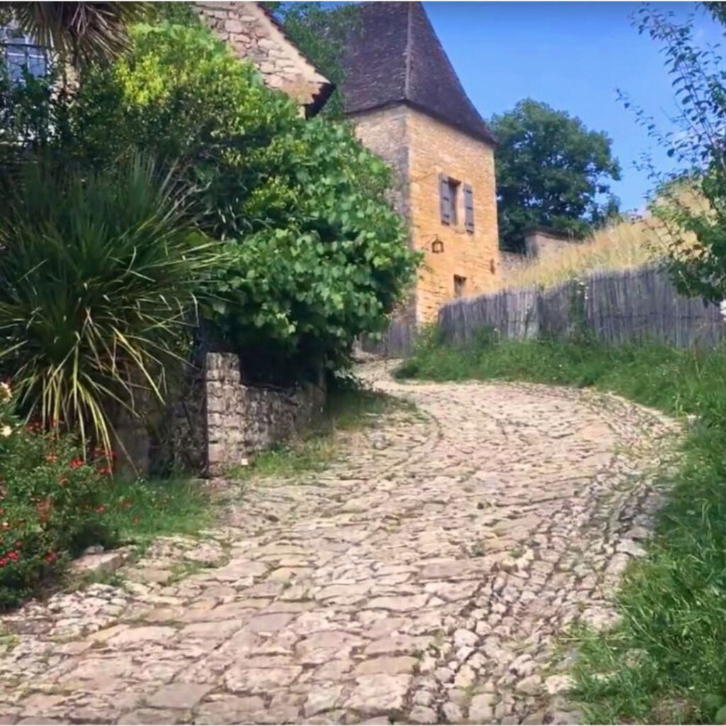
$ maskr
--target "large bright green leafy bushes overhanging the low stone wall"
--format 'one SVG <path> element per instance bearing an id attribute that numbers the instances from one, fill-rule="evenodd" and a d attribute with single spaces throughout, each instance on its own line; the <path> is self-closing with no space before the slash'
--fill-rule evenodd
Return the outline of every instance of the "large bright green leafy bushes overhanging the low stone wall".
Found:
<path id="1" fill-rule="evenodd" d="M 62 149 L 105 166 L 136 147 L 171 168 L 195 224 L 227 240 L 208 333 L 287 378 L 383 329 L 417 262 L 385 164 L 346 126 L 300 118 L 207 29 L 132 36 L 84 74 Z"/>

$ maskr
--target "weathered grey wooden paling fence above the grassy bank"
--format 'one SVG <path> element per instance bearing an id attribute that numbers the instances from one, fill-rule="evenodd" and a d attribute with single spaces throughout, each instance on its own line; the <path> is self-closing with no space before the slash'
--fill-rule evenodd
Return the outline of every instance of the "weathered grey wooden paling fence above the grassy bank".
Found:
<path id="1" fill-rule="evenodd" d="M 680 348 L 719 343 L 726 322 L 719 306 L 677 292 L 663 269 L 600 272 L 552 290 L 528 287 L 461 298 L 439 311 L 446 342 L 466 343 L 484 328 L 502 338 L 572 338 L 604 343 L 654 340 Z"/>

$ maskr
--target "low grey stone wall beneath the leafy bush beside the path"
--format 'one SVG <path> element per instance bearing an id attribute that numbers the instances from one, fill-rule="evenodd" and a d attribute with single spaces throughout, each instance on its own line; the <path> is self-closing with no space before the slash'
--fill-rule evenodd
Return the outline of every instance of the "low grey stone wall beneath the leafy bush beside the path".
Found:
<path id="1" fill-rule="evenodd" d="M 325 390 L 246 386 L 240 359 L 208 353 L 205 376 L 206 476 L 224 476 L 250 454 L 289 439 L 322 411 Z"/>

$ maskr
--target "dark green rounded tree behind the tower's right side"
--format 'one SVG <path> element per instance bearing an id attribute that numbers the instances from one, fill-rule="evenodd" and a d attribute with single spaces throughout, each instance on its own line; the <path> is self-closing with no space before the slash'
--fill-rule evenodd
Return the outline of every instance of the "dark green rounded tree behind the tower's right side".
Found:
<path id="1" fill-rule="evenodd" d="M 603 132 L 588 131 L 579 118 L 526 99 L 490 122 L 499 140 L 495 153 L 499 240 L 521 248 L 523 229 L 554 227 L 586 234 L 616 213 L 610 180 L 620 167 Z"/>

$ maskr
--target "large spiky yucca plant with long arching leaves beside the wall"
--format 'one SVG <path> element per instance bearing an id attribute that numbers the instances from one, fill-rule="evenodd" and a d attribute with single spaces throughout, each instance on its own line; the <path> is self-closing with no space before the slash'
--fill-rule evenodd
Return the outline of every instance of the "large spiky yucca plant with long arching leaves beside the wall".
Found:
<path id="1" fill-rule="evenodd" d="M 151 160 L 26 165 L 0 203 L 0 366 L 20 406 L 110 451 L 112 412 L 162 399 L 216 259 Z"/>

